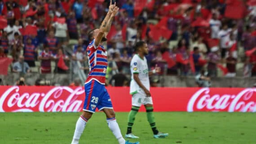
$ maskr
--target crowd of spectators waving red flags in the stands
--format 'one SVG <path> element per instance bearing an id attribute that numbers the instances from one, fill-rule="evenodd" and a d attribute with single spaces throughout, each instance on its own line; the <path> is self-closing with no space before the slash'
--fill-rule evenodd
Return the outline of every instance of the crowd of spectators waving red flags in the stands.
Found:
<path id="1" fill-rule="evenodd" d="M 255 0 L 116 0 L 121 8 L 109 35 L 108 73 L 129 74 L 133 45 L 144 40 L 148 65 L 162 74 L 256 76 Z M 0 57 L 12 72 L 88 72 L 88 31 L 98 28 L 108 0 L 0 0 Z M 239 10 L 237 10 L 239 9 Z M 71 50 L 71 51 L 69 51 Z M 24 61 L 24 62 L 23 62 Z M 74 61 L 80 61 L 77 65 Z M 66 65 L 65 65 L 66 63 Z M 218 70 L 219 69 L 219 70 Z"/>

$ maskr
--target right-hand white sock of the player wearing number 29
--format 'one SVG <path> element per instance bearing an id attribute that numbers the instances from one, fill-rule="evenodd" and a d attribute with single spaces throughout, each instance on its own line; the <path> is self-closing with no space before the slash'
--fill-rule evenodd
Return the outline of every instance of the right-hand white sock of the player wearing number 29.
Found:
<path id="1" fill-rule="evenodd" d="M 110 130 L 115 135 L 115 138 L 118 140 L 119 144 L 125 144 L 125 140 L 121 134 L 121 131 L 116 122 L 116 119 L 115 118 L 107 119 L 107 124 Z"/>

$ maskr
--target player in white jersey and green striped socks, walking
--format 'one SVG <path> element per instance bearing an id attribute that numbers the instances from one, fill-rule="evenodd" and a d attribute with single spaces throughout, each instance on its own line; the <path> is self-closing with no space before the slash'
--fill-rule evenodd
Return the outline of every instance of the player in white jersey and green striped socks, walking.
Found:
<path id="1" fill-rule="evenodd" d="M 139 111 L 141 105 L 146 108 L 147 119 L 150 123 L 154 138 L 165 138 L 168 133 L 161 133 L 156 129 L 154 115 L 153 115 L 153 101 L 150 95 L 150 81 L 149 76 L 159 73 L 161 69 L 156 65 L 152 71 L 148 70 L 147 60 L 145 55 L 149 53 L 148 46 L 145 42 L 140 41 L 135 45 L 136 55 L 132 57 L 131 73 L 132 81 L 130 84 L 130 94 L 132 95 L 132 110 L 128 116 L 128 128 L 125 137 L 139 138 L 132 134 L 132 125 L 135 116 Z"/>

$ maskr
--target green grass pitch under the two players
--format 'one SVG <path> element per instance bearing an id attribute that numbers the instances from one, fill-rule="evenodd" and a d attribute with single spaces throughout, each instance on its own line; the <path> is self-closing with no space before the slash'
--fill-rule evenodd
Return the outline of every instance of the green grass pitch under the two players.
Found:
<path id="1" fill-rule="evenodd" d="M 0 144 L 70 144 L 80 113 L 0 113 Z M 165 139 L 154 139 L 146 113 L 137 114 L 133 133 L 141 144 L 256 144 L 255 113 L 154 113 Z M 124 135 L 128 113 L 116 113 Z M 130 140 L 134 142 L 135 140 Z M 79 144 L 118 144 L 97 112 L 88 121 Z"/>

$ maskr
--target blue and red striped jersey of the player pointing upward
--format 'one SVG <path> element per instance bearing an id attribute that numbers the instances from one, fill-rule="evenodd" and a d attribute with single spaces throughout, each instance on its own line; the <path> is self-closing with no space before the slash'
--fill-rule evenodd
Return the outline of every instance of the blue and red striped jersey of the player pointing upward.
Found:
<path id="1" fill-rule="evenodd" d="M 101 84 L 106 81 L 107 52 L 102 45 L 96 46 L 94 40 L 88 45 L 86 51 L 89 62 L 89 74 L 85 83 L 96 80 Z"/>

